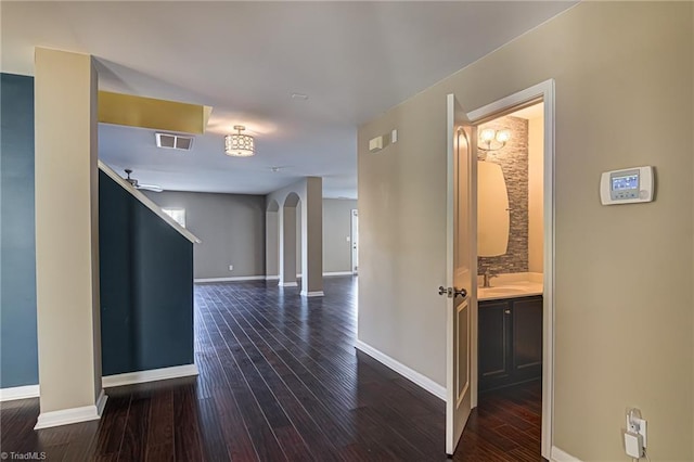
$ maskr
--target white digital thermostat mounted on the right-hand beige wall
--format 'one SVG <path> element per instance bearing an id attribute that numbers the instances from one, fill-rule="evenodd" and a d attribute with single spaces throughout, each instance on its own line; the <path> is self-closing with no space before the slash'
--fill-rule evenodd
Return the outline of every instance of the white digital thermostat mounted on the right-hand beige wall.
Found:
<path id="1" fill-rule="evenodd" d="M 600 178 L 600 201 L 603 205 L 651 202 L 653 190 L 651 166 L 605 171 Z"/>

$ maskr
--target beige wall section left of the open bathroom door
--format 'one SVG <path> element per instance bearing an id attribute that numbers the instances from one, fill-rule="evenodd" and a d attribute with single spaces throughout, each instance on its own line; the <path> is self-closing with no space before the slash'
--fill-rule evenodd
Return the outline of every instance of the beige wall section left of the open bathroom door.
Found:
<path id="1" fill-rule="evenodd" d="M 369 140 L 398 129 L 377 153 Z M 446 380 L 446 95 L 425 91 L 359 129 L 359 339 Z"/>

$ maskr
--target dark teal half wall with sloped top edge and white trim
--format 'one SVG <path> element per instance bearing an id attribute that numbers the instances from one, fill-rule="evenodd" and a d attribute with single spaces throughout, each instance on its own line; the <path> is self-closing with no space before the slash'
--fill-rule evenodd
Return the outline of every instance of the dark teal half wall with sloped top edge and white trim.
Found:
<path id="1" fill-rule="evenodd" d="M 99 172 L 103 374 L 193 363 L 193 244 Z"/>

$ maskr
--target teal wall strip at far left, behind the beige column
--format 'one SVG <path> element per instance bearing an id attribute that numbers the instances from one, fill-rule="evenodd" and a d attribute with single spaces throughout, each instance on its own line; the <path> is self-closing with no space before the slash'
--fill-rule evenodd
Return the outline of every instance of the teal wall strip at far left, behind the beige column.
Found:
<path id="1" fill-rule="evenodd" d="M 0 75 L 0 387 L 39 381 L 34 78 Z"/>

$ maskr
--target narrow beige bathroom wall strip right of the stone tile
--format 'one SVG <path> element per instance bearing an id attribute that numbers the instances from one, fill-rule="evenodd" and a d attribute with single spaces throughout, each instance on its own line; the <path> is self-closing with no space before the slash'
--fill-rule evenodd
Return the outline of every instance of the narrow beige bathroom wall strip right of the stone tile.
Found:
<path id="1" fill-rule="evenodd" d="M 528 119 L 528 271 L 543 272 L 544 119 Z"/>

